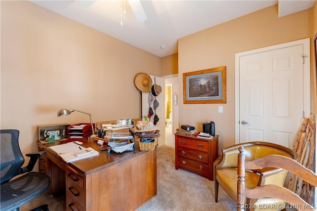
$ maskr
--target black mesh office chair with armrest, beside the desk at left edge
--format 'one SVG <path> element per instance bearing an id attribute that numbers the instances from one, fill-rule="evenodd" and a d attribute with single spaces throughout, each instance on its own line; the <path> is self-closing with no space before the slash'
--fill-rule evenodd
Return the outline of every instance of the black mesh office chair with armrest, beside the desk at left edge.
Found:
<path id="1" fill-rule="evenodd" d="M 16 129 L 0 130 L 0 199 L 1 211 L 19 211 L 19 207 L 43 193 L 50 185 L 50 177 L 40 172 L 30 172 L 37 159 L 46 152 L 26 154 L 30 161 L 26 167 L 19 147 L 19 131 Z M 28 172 L 18 178 L 13 177 Z M 43 205 L 34 211 L 48 211 Z"/>

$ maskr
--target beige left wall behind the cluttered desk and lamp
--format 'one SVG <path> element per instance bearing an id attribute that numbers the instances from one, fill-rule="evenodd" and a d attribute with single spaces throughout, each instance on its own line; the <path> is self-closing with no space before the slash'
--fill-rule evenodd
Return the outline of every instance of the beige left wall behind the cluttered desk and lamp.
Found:
<path id="1" fill-rule="evenodd" d="M 22 153 L 37 126 L 139 118 L 137 73 L 161 76 L 161 59 L 29 1 L 1 3 L 1 129 L 20 130 Z"/>

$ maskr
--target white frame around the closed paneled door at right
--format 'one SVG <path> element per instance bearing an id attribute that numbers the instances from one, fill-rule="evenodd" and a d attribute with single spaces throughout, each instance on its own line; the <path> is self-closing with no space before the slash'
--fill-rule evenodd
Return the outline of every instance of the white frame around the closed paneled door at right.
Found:
<path id="1" fill-rule="evenodd" d="M 284 47 L 291 47 L 294 45 L 303 44 L 303 52 L 305 56 L 305 64 L 304 65 L 304 112 L 305 116 L 309 117 L 311 114 L 311 96 L 310 96 L 310 74 L 311 74 L 311 65 L 310 65 L 310 38 L 286 42 L 282 44 L 272 45 L 268 47 L 258 48 L 254 50 L 249 50 L 245 52 L 240 52 L 235 54 L 235 144 L 239 144 L 240 141 L 240 59 L 241 56 L 246 56 L 254 53 L 261 53 L 264 51 L 275 50 Z M 303 117 L 306 118 L 306 117 Z"/>

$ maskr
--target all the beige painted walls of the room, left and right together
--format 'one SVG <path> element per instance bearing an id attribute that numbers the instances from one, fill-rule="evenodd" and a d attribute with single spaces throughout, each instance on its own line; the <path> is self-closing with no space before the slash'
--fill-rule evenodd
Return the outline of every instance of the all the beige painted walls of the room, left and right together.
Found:
<path id="1" fill-rule="evenodd" d="M 28 1 L 0 1 L 0 6 L 0 127 L 20 130 L 24 154 L 36 150 L 38 125 L 89 122 L 78 112 L 57 118 L 60 108 L 90 112 L 94 122 L 138 118 L 133 79 L 139 72 L 178 73 L 179 125 L 201 130 L 202 123 L 212 120 L 219 149 L 232 145 L 235 53 L 317 33 L 316 3 L 282 18 L 271 6 L 184 37 L 178 54 L 159 58 Z M 227 67 L 227 103 L 184 105 L 182 73 L 220 66 Z M 316 95 L 316 85 L 312 90 Z M 315 110 L 316 101 L 315 96 Z"/>

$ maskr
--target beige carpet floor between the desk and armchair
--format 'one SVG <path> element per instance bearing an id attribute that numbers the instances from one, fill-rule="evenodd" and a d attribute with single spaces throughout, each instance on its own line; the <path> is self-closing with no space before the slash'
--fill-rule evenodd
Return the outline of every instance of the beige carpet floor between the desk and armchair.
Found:
<path id="1" fill-rule="evenodd" d="M 214 202 L 214 182 L 195 173 L 175 169 L 175 148 L 160 146 L 157 151 L 157 196 L 138 211 L 234 211 L 236 203 L 219 186 L 218 203 Z M 65 211 L 65 192 L 43 193 L 20 211 L 48 204 L 50 211 Z"/>

